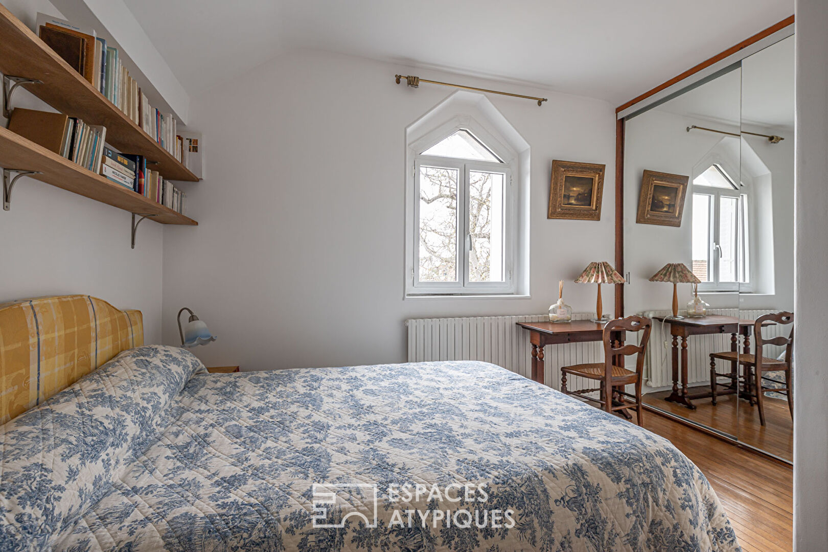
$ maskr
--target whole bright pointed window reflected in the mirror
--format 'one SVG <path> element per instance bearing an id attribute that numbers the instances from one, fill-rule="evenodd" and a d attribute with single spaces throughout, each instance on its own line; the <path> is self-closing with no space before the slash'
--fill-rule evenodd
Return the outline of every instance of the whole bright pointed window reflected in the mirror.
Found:
<path id="1" fill-rule="evenodd" d="M 748 207 L 749 194 L 720 164 L 693 180 L 693 273 L 700 290 L 749 286 Z"/>

